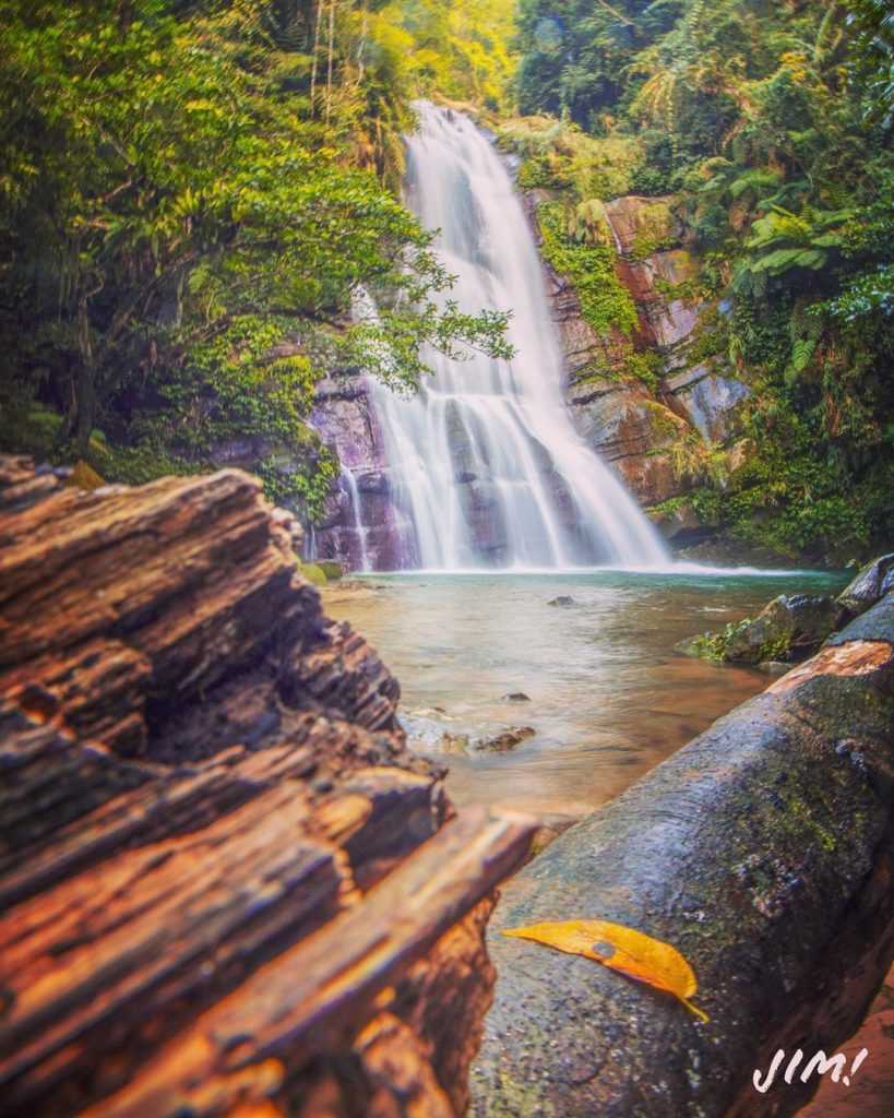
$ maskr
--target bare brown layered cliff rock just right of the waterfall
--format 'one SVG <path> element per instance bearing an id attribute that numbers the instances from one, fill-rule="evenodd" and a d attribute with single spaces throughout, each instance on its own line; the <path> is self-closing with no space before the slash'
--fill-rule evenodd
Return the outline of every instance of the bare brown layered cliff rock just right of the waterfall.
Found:
<path id="1" fill-rule="evenodd" d="M 542 197 L 538 191 L 527 196 L 535 227 Z M 741 455 L 741 447 L 734 448 L 736 415 L 750 390 L 719 359 L 688 357 L 708 307 L 686 295 L 697 266 L 679 244 L 673 199 L 618 198 L 602 211 L 618 250 L 618 278 L 639 315 L 637 335 L 627 340 L 616 331 L 595 331 L 569 281 L 545 265 L 548 290 L 574 425 L 637 500 L 652 506 L 693 489 L 696 480 L 678 470 L 672 454 L 672 447 L 687 437 L 729 445 L 730 467 L 735 467 L 735 455 Z M 662 369 L 654 388 L 631 376 L 631 344 L 636 352 L 659 354 Z M 667 527 L 668 538 L 679 537 L 679 542 L 705 534 L 701 523 L 700 532 L 685 536 L 672 520 Z"/>

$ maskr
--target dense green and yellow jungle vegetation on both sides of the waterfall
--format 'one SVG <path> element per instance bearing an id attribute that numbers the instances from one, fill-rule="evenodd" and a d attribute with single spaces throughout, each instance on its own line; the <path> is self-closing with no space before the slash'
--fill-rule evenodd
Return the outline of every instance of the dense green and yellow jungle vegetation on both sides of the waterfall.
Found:
<path id="1" fill-rule="evenodd" d="M 450 277 L 398 200 L 424 94 L 481 108 L 550 192 L 601 329 L 633 323 L 599 206 L 682 221 L 691 358 L 752 390 L 733 472 L 682 448 L 706 521 L 890 541 L 893 67 L 885 0 L 0 0 L 0 448 L 141 481 L 248 440 L 313 515 L 326 370 L 412 386 L 421 342 L 505 349 L 501 315 L 436 307 Z M 351 325 L 361 288 L 378 324 Z"/>

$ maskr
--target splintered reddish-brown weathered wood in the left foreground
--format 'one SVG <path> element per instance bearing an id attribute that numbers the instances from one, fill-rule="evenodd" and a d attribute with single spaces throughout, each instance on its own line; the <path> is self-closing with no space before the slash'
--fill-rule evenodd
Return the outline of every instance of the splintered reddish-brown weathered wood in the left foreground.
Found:
<path id="1" fill-rule="evenodd" d="M 532 828 L 451 809 L 292 525 L 238 471 L 0 459 L 4 1114 L 466 1105 Z"/>

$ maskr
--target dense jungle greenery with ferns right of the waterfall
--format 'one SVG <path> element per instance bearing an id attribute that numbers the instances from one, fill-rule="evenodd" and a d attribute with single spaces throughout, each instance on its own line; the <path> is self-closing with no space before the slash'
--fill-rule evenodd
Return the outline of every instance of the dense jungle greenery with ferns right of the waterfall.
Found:
<path id="1" fill-rule="evenodd" d="M 517 34 L 522 116 L 502 135 L 525 158 L 522 182 L 559 199 L 546 248 L 589 277 L 584 313 L 590 299 L 600 329 L 629 328 L 629 305 L 593 283 L 600 202 L 668 199 L 697 273 L 667 294 L 710 309 L 689 360 L 752 389 L 732 475 L 717 448 L 679 448 L 696 510 L 781 552 L 890 542 L 890 6 L 521 0 Z"/>

